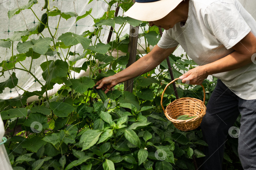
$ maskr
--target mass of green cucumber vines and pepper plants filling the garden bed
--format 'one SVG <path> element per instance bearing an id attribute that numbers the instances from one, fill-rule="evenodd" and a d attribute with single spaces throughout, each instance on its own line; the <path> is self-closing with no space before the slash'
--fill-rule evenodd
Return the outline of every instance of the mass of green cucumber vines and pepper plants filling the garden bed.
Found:
<path id="1" fill-rule="evenodd" d="M 124 11 L 132 4 L 113 0 L 108 3 L 109 7 L 116 2 L 120 3 L 119 7 Z M 37 1 L 29 0 L 27 5 L 9 11 L 9 18 L 23 9 L 30 9 L 34 3 Z M 48 17 L 58 16 L 66 20 L 76 17 L 78 21 L 90 17 L 92 9 L 81 16 L 74 12 L 61 12 L 55 7 L 47 8 L 47 11 Z M 25 74 L 29 73 L 38 81 L 40 77 L 36 77 L 29 68 L 17 68 L 15 63 L 26 57 L 31 57 L 32 61 L 39 57 L 58 57 L 41 63 L 42 77 L 45 80 L 39 81 L 42 82 L 41 91 L 25 91 L 13 99 L 0 99 L 1 117 L 7 122 L 7 128 L 21 126 L 22 132 L 26 132 L 23 136 L 10 137 L 10 145 L 5 145 L 14 169 L 194 169 L 193 156 L 204 156 L 202 147 L 207 144 L 202 140 L 200 128 L 181 132 L 162 111 L 161 95 L 171 81 L 170 73 L 164 71 L 168 68 L 166 60 L 158 69 L 135 77 L 133 93 L 123 91 L 123 85 L 120 84 L 106 94 L 109 102 L 98 100 L 100 98 L 93 90 L 95 83 L 120 72 L 128 63 L 129 54 L 118 58 L 112 56 L 114 50 L 127 53 L 129 36 L 119 37 L 125 24 L 139 25 L 144 30 L 139 37 L 145 39 L 146 46 L 155 45 L 160 39 L 157 27 L 149 27 L 147 32 L 147 23 L 129 17 L 114 17 L 114 12 L 109 8 L 101 18 L 94 18 L 94 30 L 85 31 L 82 35 L 65 32 L 57 39 L 54 34 L 50 34 L 49 29 L 45 29 L 44 32 L 48 31 L 47 34 L 53 36 L 29 39 L 30 35 L 38 33 L 33 28 L 16 31 L 9 39 L 0 40 L 0 46 L 4 48 L 15 48 L 12 46 L 13 42 L 19 41 L 19 54 L 11 55 L 7 57 L 8 60 L 0 63 L 2 73 L 18 69 Z M 116 37 L 110 43 L 101 43 L 99 35 L 102 34 L 102 25 L 115 28 L 115 24 L 121 25 L 119 31 L 115 32 Z M 92 38 L 99 43 L 92 42 Z M 83 54 L 70 51 L 77 44 L 82 45 Z M 68 52 L 63 54 L 63 49 Z M 72 60 L 70 56 L 76 56 L 76 59 Z M 75 66 L 76 61 L 85 58 L 87 60 L 81 67 Z M 97 65 L 94 59 L 104 64 Z M 196 65 L 186 55 L 177 57 L 171 54 L 169 59 L 174 78 Z M 92 76 L 77 78 L 70 74 L 71 70 L 80 72 L 88 68 Z M 63 86 L 54 96 L 45 97 L 43 93 L 52 89 L 55 83 Z M 206 103 L 215 84 L 216 78 L 203 82 L 207 92 Z M 12 89 L 17 85 L 18 78 L 13 72 L 9 79 L 0 83 L 0 93 L 5 88 Z M 201 86 L 178 85 L 180 97 L 203 99 Z M 27 98 L 34 95 L 39 96 L 41 101 L 27 104 Z M 168 87 L 163 99 L 164 107 L 175 100 L 172 86 Z M 13 120 L 16 117 L 19 119 Z M 231 160 L 227 154 L 224 159 L 229 162 Z"/>

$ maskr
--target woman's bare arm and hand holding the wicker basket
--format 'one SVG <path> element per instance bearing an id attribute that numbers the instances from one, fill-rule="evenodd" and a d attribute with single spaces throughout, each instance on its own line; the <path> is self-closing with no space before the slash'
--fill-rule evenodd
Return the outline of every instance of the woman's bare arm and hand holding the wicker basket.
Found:
<path id="1" fill-rule="evenodd" d="M 182 76 L 182 82 L 201 84 L 208 75 L 231 71 L 250 64 L 256 57 L 256 37 L 249 32 L 239 43 L 232 47 L 235 51 L 212 63 L 197 66 Z"/>

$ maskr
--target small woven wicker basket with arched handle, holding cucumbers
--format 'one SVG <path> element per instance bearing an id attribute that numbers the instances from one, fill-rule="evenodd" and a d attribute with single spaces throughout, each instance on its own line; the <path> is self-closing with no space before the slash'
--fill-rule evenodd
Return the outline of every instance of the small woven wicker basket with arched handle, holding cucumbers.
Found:
<path id="1" fill-rule="evenodd" d="M 202 102 L 199 99 L 190 98 L 190 97 L 180 98 L 170 103 L 165 110 L 162 104 L 164 92 L 170 84 L 172 84 L 174 81 L 178 79 L 179 78 L 176 78 L 172 82 L 166 85 L 161 98 L 162 109 L 164 110 L 165 116 L 174 124 L 174 126 L 177 129 L 180 129 L 182 131 L 193 130 L 200 125 L 200 123 L 202 122 L 203 116 L 205 115 L 205 112 L 206 112 L 206 107 L 204 105 L 205 103 L 204 86 L 201 84 L 204 91 L 204 102 Z M 181 115 L 189 115 L 189 116 L 197 116 L 197 117 L 194 117 L 188 120 L 177 120 L 176 118 Z"/>

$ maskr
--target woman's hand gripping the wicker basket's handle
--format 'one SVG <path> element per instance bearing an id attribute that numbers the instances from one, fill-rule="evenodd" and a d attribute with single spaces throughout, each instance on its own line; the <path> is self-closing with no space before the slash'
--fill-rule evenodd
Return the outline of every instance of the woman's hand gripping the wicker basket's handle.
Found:
<path id="1" fill-rule="evenodd" d="M 183 83 L 186 84 L 202 84 L 205 78 L 207 78 L 208 74 L 206 73 L 204 66 L 197 66 L 179 78 L 182 79 Z"/>

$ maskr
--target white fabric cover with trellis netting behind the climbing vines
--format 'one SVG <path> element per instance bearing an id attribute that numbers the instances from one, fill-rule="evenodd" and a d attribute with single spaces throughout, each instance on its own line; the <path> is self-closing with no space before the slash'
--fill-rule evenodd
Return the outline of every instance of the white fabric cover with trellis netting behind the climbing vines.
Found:
<path id="1" fill-rule="evenodd" d="M 8 61 L 11 59 L 12 55 L 16 55 L 18 53 L 16 47 L 19 41 L 21 41 L 21 36 L 26 35 L 26 30 L 33 30 L 34 28 L 37 27 L 38 25 L 38 20 L 36 16 L 33 14 L 35 13 L 38 18 L 45 12 L 41 11 L 41 8 L 44 6 L 44 1 L 37 0 L 34 1 L 29 1 L 31 4 L 35 2 L 34 5 L 32 5 L 31 9 L 25 9 L 28 8 L 26 5 L 28 4 L 27 0 L 1 0 L 0 1 L 0 21 L 1 21 L 1 26 L 0 26 L 0 43 L 3 43 L 3 40 L 6 40 L 8 38 L 15 40 L 13 43 L 13 46 L 6 48 L 1 47 L 0 45 L 0 67 L 1 69 L 4 67 L 3 61 Z M 82 0 L 75 0 L 75 1 L 69 1 L 69 0 L 55 0 L 55 1 L 49 1 L 50 6 L 56 7 L 58 11 L 55 9 L 55 13 L 52 12 L 51 16 L 49 15 L 48 19 L 48 24 L 51 32 L 56 32 L 56 39 L 58 39 L 63 33 L 65 32 L 74 32 L 75 34 L 82 35 L 85 31 L 93 31 L 95 29 L 94 26 L 94 18 L 99 18 L 101 17 L 107 10 L 108 10 L 108 1 L 104 0 L 93 0 L 88 4 L 89 1 L 82 1 Z M 247 9 L 247 11 L 252 14 L 254 18 L 256 18 L 256 13 L 254 9 L 254 4 L 253 0 L 240 0 L 242 5 Z M 25 5 L 25 7 L 23 7 Z M 111 10 L 115 10 L 117 6 L 117 3 L 115 3 L 111 8 Z M 24 10 L 19 10 L 19 8 L 24 8 Z M 16 10 L 15 10 L 16 9 Z M 8 11 L 10 11 L 8 13 Z M 19 13 L 19 14 L 18 14 Z M 60 13 L 62 14 L 62 17 L 60 17 Z M 88 13 L 90 13 L 88 15 Z M 118 15 L 122 15 L 124 13 L 123 9 L 120 8 Z M 84 17 L 87 15 L 86 17 Z M 92 17 L 91 17 L 91 16 Z M 55 29 L 57 28 L 58 29 Z M 107 37 L 109 35 L 111 26 L 103 25 L 104 32 L 101 32 L 100 35 L 100 40 L 102 43 L 107 43 Z M 115 29 L 118 30 L 120 27 L 119 24 L 115 25 Z M 140 27 L 139 27 L 140 29 Z M 131 31 L 130 25 L 127 24 L 125 25 L 120 38 L 122 36 L 125 36 L 125 34 L 129 34 Z M 141 33 L 142 30 L 139 30 L 139 33 Z M 48 31 L 43 31 L 42 32 L 44 37 L 51 37 Z M 115 37 L 115 32 L 112 34 L 112 40 Z M 26 36 L 24 36 L 26 37 Z M 40 35 L 30 35 L 30 39 L 38 39 Z M 92 42 L 95 41 L 95 37 L 92 38 Z M 97 42 L 98 43 L 98 42 Z M 146 48 L 145 42 L 141 39 L 138 41 L 138 51 L 141 54 L 144 54 L 145 51 L 143 48 Z M 12 54 L 12 48 L 13 48 L 13 54 Z M 152 49 L 152 46 L 150 46 Z M 178 54 L 181 54 L 182 50 L 181 48 L 177 49 Z M 176 53 L 177 53 L 176 50 Z M 63 49 L 63 54 L 65 54 L 68 51 L 68 49 Z M 77 44 L 76 46 L 72 46 L 70 48 L 71 52 L 75 52 L 74 56 L 70 56 L 69 60 L 70 61 L 77 61 L 74 65 L 74 67 L 80 67 L 84 61 L 86 61 L 86 58 L 84 56 L 84 49 L 82 48 L 81 44 Z M 58 50 L 60 53 L 60 50 Z M 59 58 L 64 59 L 64 55 L 58 56 L 56 54 L 57 52 L 53 52 L 52 54 L 48 54 L 47 57 L 49 60 L 56 60 Z M 117 57 L 117 52 L 113 51 L 112 56 Z M 119 51 L 119 55 L 122 55 L 123 53 Z M 125 54 L 123 54 L 125 55 Z M 83 58 L 83 59 L 81 59 Z M 31 72 L 34 73 L 34 75 L 39 79 L 42 84 L 45 83 L 43 77 L 42 77 L 42 69 L 40 68 L 40 64 L 46 61 L 46 57 L 44 55 L 41 55 L 39 58 L 34 59 L 31 67 Z M 98 60 L 96 60 L 98 61 Z M 103 62 L 99 62 L 99 64 L 102 64 Z M 31 64 L 31 57 L 27 57 L 25 60 L 17 62 L 15 65 L 16 67 L 22 68 L 23 66 L 25 68 L 29 68 Z M 23 66 L 22 66 L 23 65 Z M 21 95 L 24 91 L 21 90 L 27 90 L 27 91 L 35 91 L 35 90 L 40 90 L 41 85 L 39 82 L 36 82 L 34 77 L 31 76 L 30 74 L 25 73 L 24 71 L 21 70 L 11 70 L 11 71 L 6 71 L 4 72 L 3 76 L 0 77 L 0 82 L 6 81 L 9 76 L 11 75 L 12 72 L 15 72 L 15 76 L 18 78 L 18 86 L 20 88 L 5 88 L 3 90 L 3 93 L 0 94 L 0 99 L 10 99 L 10 98 L 15 98 L 18 97 L 19 94 Z M 89 71 L 89 68 L 87 71 L 81 70 L 80 73 L 71 71 L 71 75 L 73 78 L 78 78 L 81 76 L 88 76 L 89 74 L 92 74 Z M 48 90 L 48 95 L 53 95 L 55 94 L 58 89 L 62 85 L 60 84 L 55 84 L 54 88 L 51 90 Z M 45 94 L 44 94 L 45 96 Z M 31 102 L 34 100 L 39 100 L 37 96 L 32 96 L 27 99 L 27 102 Z"/>

